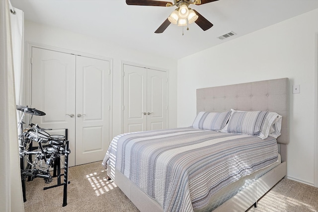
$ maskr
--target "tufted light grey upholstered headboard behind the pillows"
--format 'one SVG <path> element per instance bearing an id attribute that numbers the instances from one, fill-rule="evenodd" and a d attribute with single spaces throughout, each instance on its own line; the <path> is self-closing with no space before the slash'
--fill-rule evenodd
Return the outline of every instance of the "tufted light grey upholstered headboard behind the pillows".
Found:
<path id="1" fill-rule="evenodd" d="M 283 116 L 281 136 L 277 138 L 277 142 L 288 144 L 288 97 L 288 78 L 199 88 L 197 89 L 197 113 L 200 111 L 223 112 L 229 111 L 231 109 L 243 111 L 262 110 L 276 112 Z M 284 149 L 281 149 L 281 151 L 286 151 L 285 145 Z"/>

